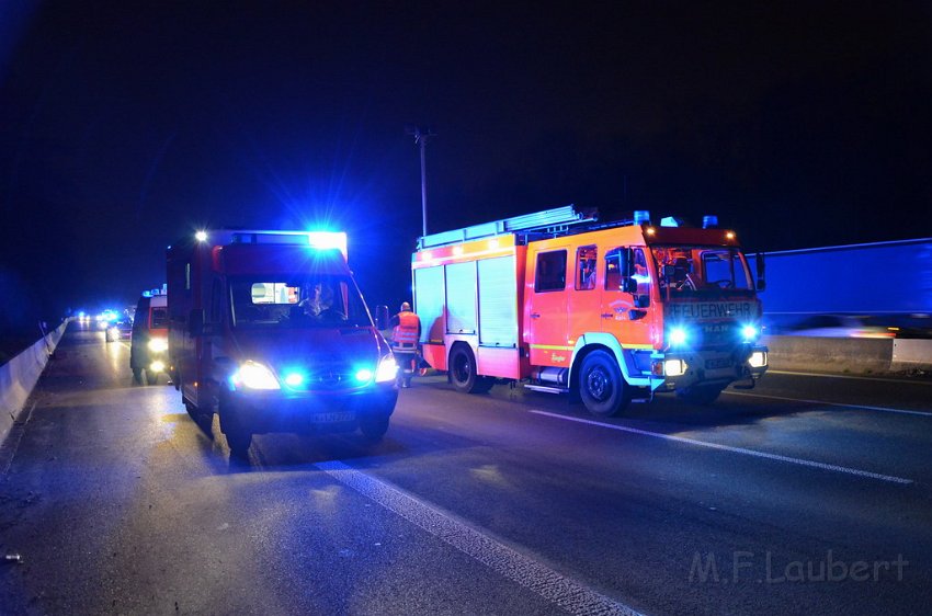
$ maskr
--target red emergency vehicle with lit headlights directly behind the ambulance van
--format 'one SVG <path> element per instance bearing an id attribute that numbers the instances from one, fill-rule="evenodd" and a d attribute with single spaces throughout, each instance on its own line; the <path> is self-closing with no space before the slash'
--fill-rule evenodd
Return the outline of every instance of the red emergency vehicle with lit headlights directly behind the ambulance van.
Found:
<path id="1" fill-rule="evenodd" d="M 155 385 L 168 364 L 168 307 L 167 296 L 146 292 L 136 304 L 129 344 L 129 367 L 136 383 Z"/>

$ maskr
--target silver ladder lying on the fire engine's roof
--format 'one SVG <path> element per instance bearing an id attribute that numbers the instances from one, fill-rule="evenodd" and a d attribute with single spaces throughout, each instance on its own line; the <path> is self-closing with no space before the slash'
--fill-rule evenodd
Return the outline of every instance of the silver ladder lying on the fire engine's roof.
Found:
<path id="1" fill-rule="evenodd" d="M 522 231 L 558 236 L 567 233 L 570 227 L 594 223 L 598 219 L 599 213 L 595 209 L 578 210 L 575 205 L 566 205 L 424 236 L 418 239 L 418 250 Z"/>

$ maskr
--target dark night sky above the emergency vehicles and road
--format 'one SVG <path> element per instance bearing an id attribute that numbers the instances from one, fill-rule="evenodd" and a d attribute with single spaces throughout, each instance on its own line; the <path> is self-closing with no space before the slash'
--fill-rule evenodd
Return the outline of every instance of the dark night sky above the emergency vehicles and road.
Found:
<path id="1" fill-rule="evenodd" d="M 576 203 L 750 251 L 932 236 L 929 2 L 0 2 L 0 328 L 135 301 L 196 228 L 429 230 Z M 873 283 L 865 282 L 866 286 Z"/>

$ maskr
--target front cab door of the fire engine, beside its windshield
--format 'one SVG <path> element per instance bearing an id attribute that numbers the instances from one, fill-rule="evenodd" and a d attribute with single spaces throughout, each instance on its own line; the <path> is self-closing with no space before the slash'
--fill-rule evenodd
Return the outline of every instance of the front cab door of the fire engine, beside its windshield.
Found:
<path id="1" fill-rule="evenodd" d="M 637 306 L 650 300 L 650 271 L 644 250 L 634 249 L 637 293 L 622 290 L 622 263 L 617 250 L 605 253 L 605 284 L 602 288 L 602 331 L 613 334 L 625 349 L 650 349 L 650 329 L 653 309 L 650 306 Z"/>

